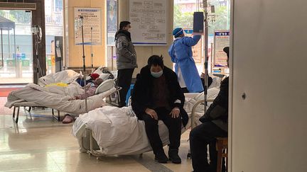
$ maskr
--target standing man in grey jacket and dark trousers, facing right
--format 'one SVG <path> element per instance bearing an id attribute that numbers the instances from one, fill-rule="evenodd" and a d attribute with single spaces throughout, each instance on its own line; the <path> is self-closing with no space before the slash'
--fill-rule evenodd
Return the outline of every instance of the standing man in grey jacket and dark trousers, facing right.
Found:
<path id="1" fill-rule="evenodd" d="M 119 30 L 115 34 L 115 47 L 117 54 L 117 84 L 122 87 L 119 91 L 120 102 L 119 107 L 126 105 L 126 93 L 129 90 L 132 74 L 136 64 L 136 51 L 134 45 L 131 42 L 131 34 L 129 29 L 131 28 L 129 21 L 122 21 L 119 24 Z"/>

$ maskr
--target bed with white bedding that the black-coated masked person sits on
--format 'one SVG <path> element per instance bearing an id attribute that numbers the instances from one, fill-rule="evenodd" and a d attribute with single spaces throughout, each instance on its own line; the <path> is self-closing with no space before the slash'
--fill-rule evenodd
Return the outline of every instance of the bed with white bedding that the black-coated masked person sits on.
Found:
<path id="1" fill-rule="evenodd" d="M 208 99 L 212 101 L 218 91 L 219 88 L 208 90 Z M 198 119 L 204 113 L 203 93 L 186 94 L 185 97 L 184 108 L 189 122 L 182 128 L 182 133 L 199 125 Z M 122 115 L 124 113 L 129 115 Z M 158 122 L 158 126 L 165 146 L 168 144 L 168 129 L 162 121 Z M 144 121 L 137 120 L 131 107 L 103 107 L 80 115 L 72 126 L 72 134 L 78 139 L 80 151 L 96 156 L 97 159 L 99 156 L 143 154 L 151 151 Z"/>

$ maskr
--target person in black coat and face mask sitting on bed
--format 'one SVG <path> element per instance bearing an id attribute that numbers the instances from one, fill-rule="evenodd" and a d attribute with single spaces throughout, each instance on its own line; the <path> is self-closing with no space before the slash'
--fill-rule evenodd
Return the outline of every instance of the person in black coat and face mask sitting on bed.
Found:
<path id="1" fill-rule="evenodd" d="M 188 123 L 183 109 L 185 96 L 179 86 L 177 75 L 164 67 L 163 57 L 149 57 L 148 65 L 136 76 L 131 106 L 139 120 L 144 120 L 145 130 L 159 163 L 181 164 L 178 148 L 181 142 L 181 126 Z M 168 157 L 158 133 L 158 120 L 162 120 L 169 132 Z"/>

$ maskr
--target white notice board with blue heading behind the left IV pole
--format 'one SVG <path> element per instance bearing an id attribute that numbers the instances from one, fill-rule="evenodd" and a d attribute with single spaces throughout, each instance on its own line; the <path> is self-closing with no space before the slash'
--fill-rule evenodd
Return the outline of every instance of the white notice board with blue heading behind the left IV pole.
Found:
<path id="1" fill-rule="evenodd" d="M 101 8 L 75 8 L 75 45 L 82 45 L 81 19 L 83 17 L 83 35 L 85 45 L 102 45 Z M 92 28 L 92 33 L 91 33 Z M 92 35 L 92 37 L 91 37 Z"/>

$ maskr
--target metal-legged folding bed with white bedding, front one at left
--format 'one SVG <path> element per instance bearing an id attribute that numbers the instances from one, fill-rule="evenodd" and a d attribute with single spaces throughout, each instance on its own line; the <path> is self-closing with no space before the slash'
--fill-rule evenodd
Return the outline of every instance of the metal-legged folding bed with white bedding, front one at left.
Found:
<path id="1" fill-rule="evenodd" d="M 8 96 L 8 102 L 5 106 L 7 108 L 14 107 L 13 117 L 16 115 L 16 123 L 18 122 L 18 115 L 21 107 L 25 108 L 25 110 L 27 110 L 26 107 L 28 107 L 27 111 L 30 111 L 31 108 L 34 107 L 51 108 L 53 117 L 55 117 L 54 110 L 58 110 L 58 117 L 55 117 L 55 119 L 60 120 L 60 111 L 81 114 L 87 113 L 87 110 L 94 110 L 95 108 L 102 107 L 103 99 L 116 92 L 117 88 L 114 88 L 114 81 L 112 79 L 104 81 L 97 87 L 95 96 L 87 98 L 87 105 L 85 105 L 85 100 L 69 101 L 72 96 L 63 95 L 65 94 L 63 90 L 59 90 L 58 93 L 55 93 L 55 90 L 50 92 L 48 88 L 36 84 L 28 84 L 23 89 L 12 91 Z M 80 91 L 80 88 L 77 90 Z M 78 94 L 80 93 L 77 93 L 77 95 Z"/>

